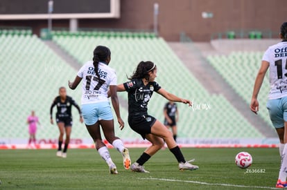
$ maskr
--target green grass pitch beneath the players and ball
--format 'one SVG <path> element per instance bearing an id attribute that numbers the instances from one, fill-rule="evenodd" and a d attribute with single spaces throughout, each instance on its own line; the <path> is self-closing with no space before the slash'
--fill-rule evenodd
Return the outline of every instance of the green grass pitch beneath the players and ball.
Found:
<path id="1" fill-rule="evenodd" d="M 144 149 L 130 149 L 134 162 Z M 234 157 L 252 155 L 250 168 L 239 169 Z M 173 154 L 160 150 L 145 164 L 150 173 L 123 169 L 122 157 L 110 149 L 119 171 L 110 175 L 94 149 L 69 149 L 67 158 L 56 150 L 0 150 L 0 189 L 275 189 L 279 173 L 278 149 L 184 148 L 186 160 L 195 158 L 196 171 L 179 171 Z"/>

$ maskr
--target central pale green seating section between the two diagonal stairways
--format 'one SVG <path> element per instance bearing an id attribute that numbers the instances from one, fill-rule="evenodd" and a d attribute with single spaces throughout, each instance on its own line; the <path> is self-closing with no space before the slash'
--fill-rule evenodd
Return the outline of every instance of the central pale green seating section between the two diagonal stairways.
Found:
<path id="1" fill-rule="evenodd" d="M 225 97 L 209 94 L 160 37 L 57 35 L 53 41 L 82 64 L 92 59 L 94 46 L 105 44 L 110 47 L 110 66 L 116 70 L 119 83 L 127 81 L 127 75 L 132 74 L 139 61 L 154 61 L 158 66 L 157 82 L 160 85 L 176 95 L 193 99 L 193 108 L 179 104 L 180 137 L 263 137 Z M 119 96 L 127 100 L 125 93 L 119 93 Z M 166 99 L 154 95 L 149 104 L 150 114 L 163 120 L 165 102 Z"/>

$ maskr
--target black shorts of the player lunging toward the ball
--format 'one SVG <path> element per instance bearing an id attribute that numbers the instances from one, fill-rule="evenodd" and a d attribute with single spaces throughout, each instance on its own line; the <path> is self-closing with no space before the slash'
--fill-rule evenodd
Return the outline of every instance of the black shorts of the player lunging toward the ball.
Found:
<path id="1" fill-rule="evenodd" d="M 130 128 L 139 133 L 143 139 L 146 139 L 146 134 L 151 133 L 151 127 L 155 124 L 155 117 L 148 114 L 129 115 L 128 124 Z"/>

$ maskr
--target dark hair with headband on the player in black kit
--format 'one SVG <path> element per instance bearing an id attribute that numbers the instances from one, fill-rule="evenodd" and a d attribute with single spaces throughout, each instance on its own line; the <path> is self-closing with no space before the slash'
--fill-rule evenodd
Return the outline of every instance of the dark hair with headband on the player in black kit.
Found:
<path id="1" fill-rule="evenodd" d="M 136 70 L 128 79 L 150 79 L 148 74 L 150 71 L 153 71 L 156 68 L 155 64 L 152 61 L 141 61 L 137 65 Z"/>

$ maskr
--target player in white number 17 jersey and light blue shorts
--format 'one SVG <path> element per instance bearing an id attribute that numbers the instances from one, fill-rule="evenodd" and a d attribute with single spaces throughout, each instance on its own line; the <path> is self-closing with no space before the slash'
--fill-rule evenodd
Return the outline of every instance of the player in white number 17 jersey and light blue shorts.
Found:
<path id="1" fill-rule="evenodd" d="M 114 69 L 108 64 L 111 60 L 110 49 L 105 46 L 97 46 L 94 50 L 93 61 L 80 68 L 74 82 L 69 82 L 69 88 L 75 89 L 82 80 L 82 116 L 89 134 L 96 144 L 96 150 L 110 167 L 110 173 L 116 174 L 116 165 L 112 162 L 107 146 L 101 137 L 100 125 L 105 138 L 116 150 L 123 155 L 123 167 L 130 169 L 130 155 L 123 142 L 114 135 L 114 119 L 107 91 L 110 88 L 112 106 L 116 113 L 120 128 L 124 122 L 119 111 L 119 99 L 116 94 L 117 77 Z"/>

